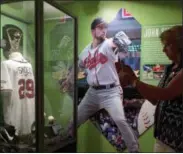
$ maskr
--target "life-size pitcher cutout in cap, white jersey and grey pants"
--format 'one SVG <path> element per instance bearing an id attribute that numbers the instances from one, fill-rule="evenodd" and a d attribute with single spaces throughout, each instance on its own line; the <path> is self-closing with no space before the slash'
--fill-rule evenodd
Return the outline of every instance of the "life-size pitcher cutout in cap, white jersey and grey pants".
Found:
<path id="1" fill-rule="evenodd" d="M 126 52 L 131 41 L 123 31 L 110 39 L 106 38 L 106 32 L 107 23 L 102 18 L 94 19 L 91 23 L 93 41 L 79 55 L 78 65 L 86 70 L 90 88 L 78 106 L 77 124 L 80 126 L 104 108 L 118 126 L 128 151 L 139 152 L 138 140 L 125 118 L 123 90 L 115 66 L 118 52 Z M 72 124 L 69 130 L 71 128 Z"/>

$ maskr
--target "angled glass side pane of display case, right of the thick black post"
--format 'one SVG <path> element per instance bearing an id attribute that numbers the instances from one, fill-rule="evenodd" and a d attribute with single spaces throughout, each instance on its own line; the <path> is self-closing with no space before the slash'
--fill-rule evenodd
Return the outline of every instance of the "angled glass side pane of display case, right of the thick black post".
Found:
<path id="1" fill-rule="evenodd" d="M 73 84 L 61 85 L 74 64 L 74 19 L 44 3 L 44 115 L 45 152 L 58 150 L 70 140 L 67 127 L 73 118 Z M 52 143 L 52 144 L 50 144 Z"/>

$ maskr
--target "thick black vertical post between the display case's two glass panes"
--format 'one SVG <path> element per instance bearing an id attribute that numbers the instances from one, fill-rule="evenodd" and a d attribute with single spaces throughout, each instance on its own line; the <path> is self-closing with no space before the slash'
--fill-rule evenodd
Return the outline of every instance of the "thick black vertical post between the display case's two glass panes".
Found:
<path id="1" fill-rule="evenodd" d="M 43 0 L 35 0 L 36 151 L 44 151 Z"/>

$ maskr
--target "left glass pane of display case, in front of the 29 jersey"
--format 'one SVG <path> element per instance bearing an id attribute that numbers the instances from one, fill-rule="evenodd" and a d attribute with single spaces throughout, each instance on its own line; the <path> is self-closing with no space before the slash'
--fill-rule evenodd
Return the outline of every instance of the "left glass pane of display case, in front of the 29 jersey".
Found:
<path id="1" fill-rule="evenodd" d="M 34 152 L 34 1 L 2 4 L 0 15 L 0 152 Z"/>

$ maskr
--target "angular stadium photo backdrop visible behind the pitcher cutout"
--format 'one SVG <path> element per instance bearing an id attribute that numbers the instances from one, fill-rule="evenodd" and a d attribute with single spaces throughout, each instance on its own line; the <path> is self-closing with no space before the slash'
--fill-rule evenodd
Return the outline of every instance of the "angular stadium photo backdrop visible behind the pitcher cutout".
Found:
<path id="1" fill-rule="evenodd" d="M 121 63 L 129 65 L 137 76 L 140 76 L 141 25 L 124 8 L 121 8 L 115 19 L 109 23 L 107 37 L 114 37 L 119 31 L 124 31 L 132 41 L 128 52 L 119 52 L 119 59 Z M 154 123 L 154 106 L 149 101 L 139 98 L 124 98 L 122 103 L 126 120 L 138 138 Z M 91 121 L 118 152 L 126 148 L 119 128 L 105 109 L 94 114 Z"/>

